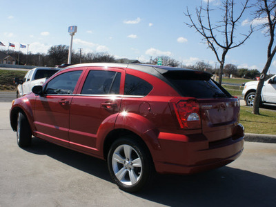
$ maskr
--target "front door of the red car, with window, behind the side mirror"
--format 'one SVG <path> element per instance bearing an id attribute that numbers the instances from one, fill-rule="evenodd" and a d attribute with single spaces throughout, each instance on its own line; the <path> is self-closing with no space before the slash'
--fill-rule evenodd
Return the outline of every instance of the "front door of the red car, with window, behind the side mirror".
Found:
<path id="1" fill-rule="evenodd" d="M 83 70 L 61 72 L 43 89 L 35 101 L 34 125 L 38 137 L 68 146 L 69 113 Z"/>

